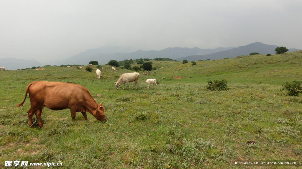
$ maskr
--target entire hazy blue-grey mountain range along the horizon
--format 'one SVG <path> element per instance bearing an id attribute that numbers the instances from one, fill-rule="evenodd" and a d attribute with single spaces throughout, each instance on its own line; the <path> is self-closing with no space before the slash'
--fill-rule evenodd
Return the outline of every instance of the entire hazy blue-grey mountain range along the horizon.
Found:
<path id="1" fill-rule="evenodd" d="M 252 52 L 259 52 L 260 54 L 275 54 L 276 45 L 266 45 L 261 42 L 251 43 L 245 46 L 239 47 L 229 47 L 229 48 L 216 48 L 216 49 L 200 49 L 200 48 L 165 48 L 161 51 L 143 51 L 137 50 L 133 47 L 123 48 L 123 47 L 102 47 L 97 49 L 88 49 L 81 52 L 75 56 L 66 58 L 64 60 L 58 61 L 53 60 L 46 64 L 51 65 L 87 65 L 89 61 L 96 60 L 100 65 L 104 65 L 109 62 L 109 60 L 125 60 L 125 59 L 139 59 L 139 58 L 149 58 L 154 59 L 156 57 L 171 58 L 174 60 L 182 61 L 184 59 L 188 61 L 197 60 L 216 60 L 223 58 L 233 58 L 241 55 L 249 55 Z M 290 48 L 291 51 L 298 51 L 299 49 Z M 24 60 L 16 58 L 4 58 L 0 59 L 0 66 L 6 69 L 15 70 L 22 69 L 26 67 L 33 66 L 43 66 L 37 60 Z"/>

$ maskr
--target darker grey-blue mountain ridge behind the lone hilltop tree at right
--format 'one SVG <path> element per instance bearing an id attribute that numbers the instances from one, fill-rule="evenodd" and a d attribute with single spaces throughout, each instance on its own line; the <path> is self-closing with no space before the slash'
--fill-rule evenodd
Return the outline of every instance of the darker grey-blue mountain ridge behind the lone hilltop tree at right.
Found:
<path id="1" fill-rule="evenodd" d="M 245 46 L 239 46 L 238 48 L 233 48 L 227 51 L 220 51 L 212 54 L 205 55 L 192 55 L 188 57 L 181 57 L 175 60 L 182 61 L 184 59 L 188 61 L 197 61 L 197 60 L 215 60 L 215 59 L 223 59 L 223 58 L 234 58 L 241 55 L 249 55 L 252 52 L 259 52 L 259 54 L 275 54 L 276 45 L 266 45 L 261 42 L 251 43 Z M 291 48 L 288 52 L 299 51 L 299 49 Z"/>

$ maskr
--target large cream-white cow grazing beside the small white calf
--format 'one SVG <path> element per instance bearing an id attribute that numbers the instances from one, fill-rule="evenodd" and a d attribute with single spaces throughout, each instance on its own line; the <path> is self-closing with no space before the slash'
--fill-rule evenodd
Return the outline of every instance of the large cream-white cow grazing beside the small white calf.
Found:
<path id="1" fill-rule="evenodd" d="M 124 84 L 124 88 L 123 90 L 125 89 L 125 84 L 127 83 L 128 85 L 128 88 L 130 89 L 130 86 L 129 86 L 129 82 L 133 82 L 134 81 L 134 86 L 132 89 L 134 89 L 135 85 L 137 85 L 137 89 L 138 89 L 138 77 L 140 76 L 139 73 L 137 72 L 134 72 L 134 73 L 124 73 L 122 75 L 120 75 L 120 78 L 114 82 L 115 83 L 115 86 L 116 86 L 116 89 L 119 89 L 120 88 L 120 84 Z"/>

